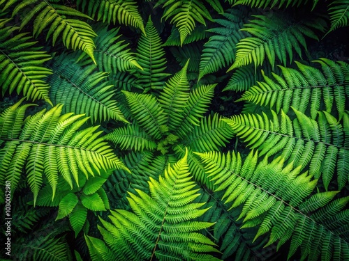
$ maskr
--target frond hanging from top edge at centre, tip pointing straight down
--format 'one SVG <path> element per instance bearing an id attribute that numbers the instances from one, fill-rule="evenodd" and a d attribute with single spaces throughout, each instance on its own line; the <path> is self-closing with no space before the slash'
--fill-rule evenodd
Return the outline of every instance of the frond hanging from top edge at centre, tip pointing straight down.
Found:
<path id="1" fill-rule="evenodd" d="M 223 13 L 223 8 L 219 1 L 207 0 L 207 3 L 218 13 Z M 156 6 L 162 4 L 163 8 L 165 8 L 162 18 L 167 20 L 172 17 L 170 23 L 175 24 L 177 27 L 181 45 L 183 45 L 186 37 L 195 29 L 195 21 L 206 25 L 205 18 L 212 19 L 207 8 L 198 0 L 160 0 L 156 3 Z"/>

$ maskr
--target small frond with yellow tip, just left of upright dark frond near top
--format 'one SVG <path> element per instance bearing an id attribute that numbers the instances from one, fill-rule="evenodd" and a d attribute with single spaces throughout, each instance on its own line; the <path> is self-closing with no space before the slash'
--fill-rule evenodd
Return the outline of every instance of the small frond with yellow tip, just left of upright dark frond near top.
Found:
<path id="1" fill-rule="evenodd" d="M 126 49 L 128 44 L 119 39 L 119 29 L 107 30 L 106 26 L 101 25 L 95 31 L 98 37 L 94 54 L 99 70 L 114 74 L 136 68 L 142 70 L 130 49 Z"/>

